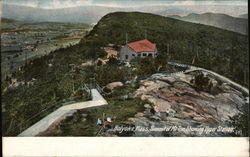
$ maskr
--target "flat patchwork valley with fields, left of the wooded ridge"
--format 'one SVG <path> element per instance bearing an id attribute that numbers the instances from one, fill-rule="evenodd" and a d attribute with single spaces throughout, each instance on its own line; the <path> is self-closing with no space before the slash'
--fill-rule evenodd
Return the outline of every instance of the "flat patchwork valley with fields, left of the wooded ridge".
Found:
<path id="1" fill-rule="evenodd" d="M 2 19 L 1 77 L 18 70 L 35 58 L 79 43 L 91 29 L 87 24 L 21 22 Z"/>

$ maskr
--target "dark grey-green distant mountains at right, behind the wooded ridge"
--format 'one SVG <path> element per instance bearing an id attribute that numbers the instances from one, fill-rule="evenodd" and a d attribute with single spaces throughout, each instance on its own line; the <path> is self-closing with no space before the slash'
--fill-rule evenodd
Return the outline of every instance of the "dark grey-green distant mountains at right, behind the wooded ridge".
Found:
<path id="1" fill-rule="evenodd" d="M 169 16 L 171 18 L 188 21 L 193 23 L 200 23 L 218 28 L 226 29 L 229 31 L 247 34 L 248 20 L 243 18 L 236 18 L 226 14 L 204 13 L 195 14 L 191 13 L 187 16 Z"/>

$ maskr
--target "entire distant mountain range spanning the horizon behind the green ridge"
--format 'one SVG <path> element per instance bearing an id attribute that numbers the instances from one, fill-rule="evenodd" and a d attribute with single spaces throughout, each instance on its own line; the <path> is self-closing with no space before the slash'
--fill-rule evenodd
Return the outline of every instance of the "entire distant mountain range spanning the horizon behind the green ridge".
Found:
<path id="1" fill-rule="evenodd" d="M 197 12 L 193 11 L 192 7 L 186 9 L 182 6 L 143 6 L 132 8 L 79 6 L 63 9 L 42 9 L 20 5 L 3 4 L 2 18 L 28 22 L 67 22 L 95 24 L 104 15 L 117 11 L 139 11 L 161 16 L 170 16 L 175 19 L 215 26 L 241 34 L 247 34 L 248 29 L 247 19 L 244 18 L 247 17 L 247 14 L 242 14 L 240 16 L 242 18 L 215 13 L 197 14 Z"/>

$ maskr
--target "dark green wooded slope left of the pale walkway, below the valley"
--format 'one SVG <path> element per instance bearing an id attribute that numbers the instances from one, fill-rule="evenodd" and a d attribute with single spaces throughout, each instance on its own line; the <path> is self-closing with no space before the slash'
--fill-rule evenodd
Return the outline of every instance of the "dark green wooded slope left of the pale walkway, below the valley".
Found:
<path id="1" fill-rule="evenodd" d="M 81 85 L 82 82 L 88 82 L 89 77 L 93 77 L 94 69 L 92 66 L 81 66 L 81 63 L 90 59 L 82 52 L 83 49 L 86 47 L 79 45 L 58 49 L 47 56 L 30 61 L 21 68 L 22 71 L 13 73 L 12 77 L 18 81 L 28 82 L 33 78 L 35 81 L 31 86 L 27 86 L 26 83 L 14 90 L 2 90 L 2 104 L 5 109 L 5 127 L 2 131 L 5 136 L 17 135 L 58 108 L 65 99 L 87 99 Z M 10 79 L 2 81 L 4 88 L 9 84 Z M 40 113 L 47 108 L 49 109 Z M 30 119 L 38 113 L 38 116 Z"/>

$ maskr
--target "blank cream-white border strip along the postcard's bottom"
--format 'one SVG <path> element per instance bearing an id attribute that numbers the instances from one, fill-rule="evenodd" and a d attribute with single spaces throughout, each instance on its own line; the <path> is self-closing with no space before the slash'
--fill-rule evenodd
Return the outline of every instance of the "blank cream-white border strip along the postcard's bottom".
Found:
<path id="1" fill-rule="evenodd" d="M 249 138 L 3 137 L 3 156 L 248 157 Z"/>

